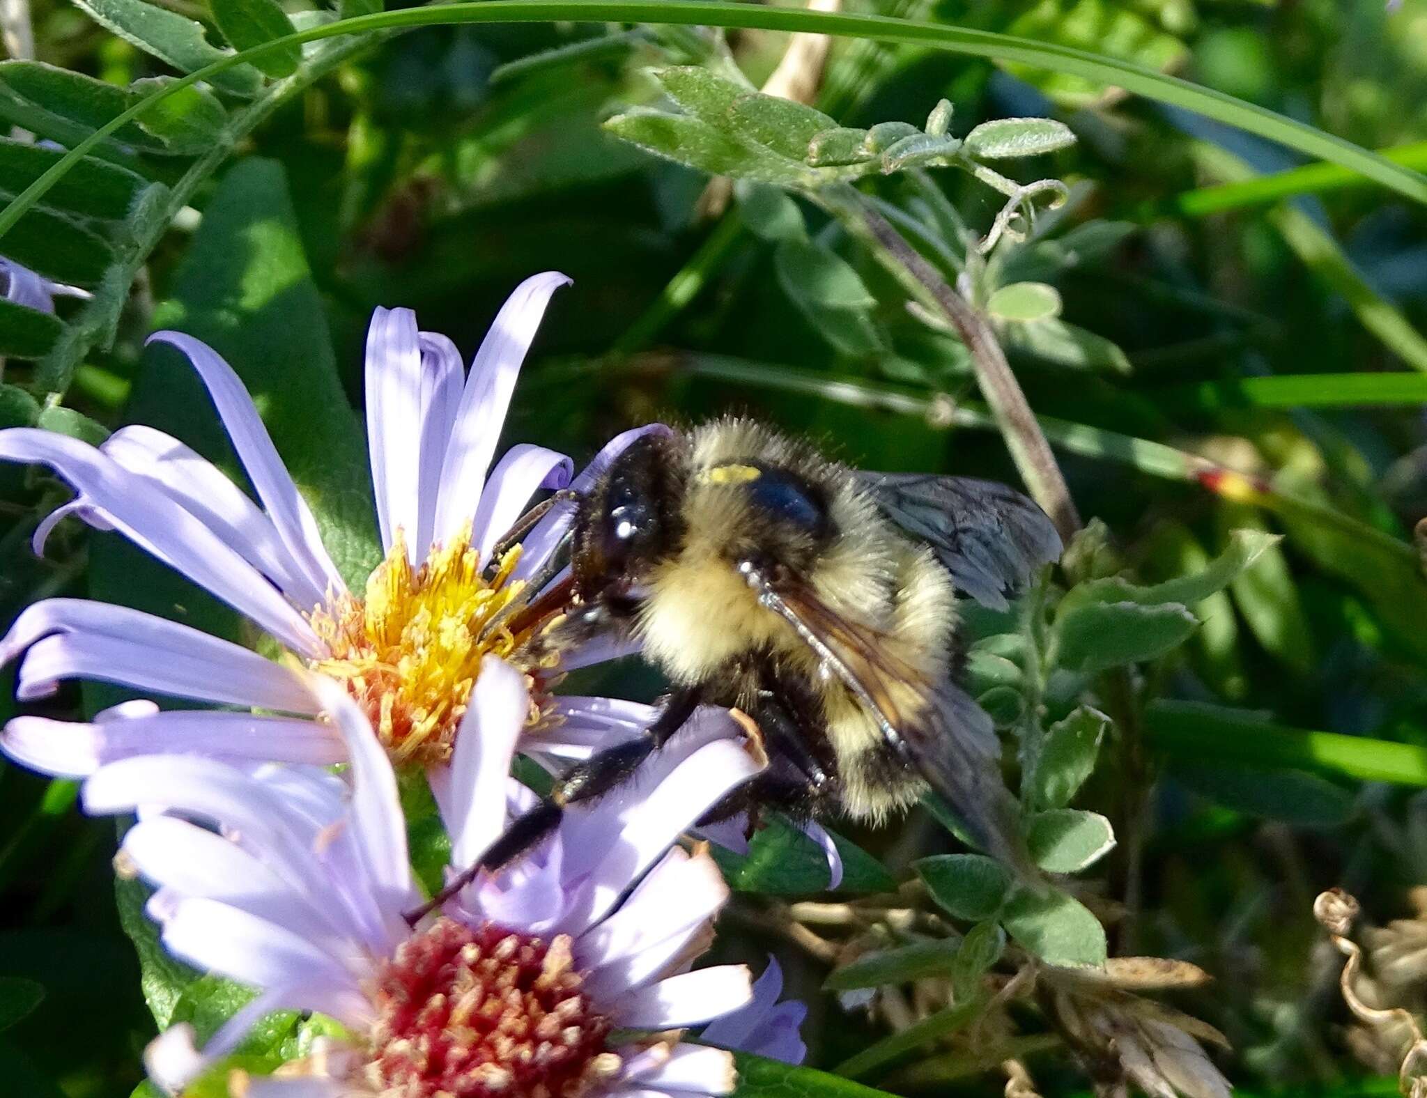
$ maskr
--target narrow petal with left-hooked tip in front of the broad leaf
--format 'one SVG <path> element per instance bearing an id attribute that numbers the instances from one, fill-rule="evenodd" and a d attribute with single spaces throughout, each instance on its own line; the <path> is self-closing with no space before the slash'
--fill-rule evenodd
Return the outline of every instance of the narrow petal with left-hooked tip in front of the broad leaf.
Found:
<path id="1" fill-rule="evenodd" d="M 315 589 L 345 592 L 347 585 L 323 546 L 317 520 L 293 483 L 253 398 L 233 366 L 211 347 L 183 332 L 154 332 L 146 342 L 170 344 L 188 356 L 213 398 L 233 449 L 253 482 L 253 491 L 273 519 L 278 538 Z"/>

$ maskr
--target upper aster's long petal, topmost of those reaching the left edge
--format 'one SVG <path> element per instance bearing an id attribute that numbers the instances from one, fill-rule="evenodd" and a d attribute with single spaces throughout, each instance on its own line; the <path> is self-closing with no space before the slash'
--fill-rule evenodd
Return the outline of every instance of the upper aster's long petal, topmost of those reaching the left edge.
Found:
<path id="1" fill-rule="evenodd" d="M 36 428 L 0 431 L 0 461 L 40 462 L 143 549 L 303 655 L 323 652 L 311 626 L 247 560 L 150 482 L 78 439 Z"/>

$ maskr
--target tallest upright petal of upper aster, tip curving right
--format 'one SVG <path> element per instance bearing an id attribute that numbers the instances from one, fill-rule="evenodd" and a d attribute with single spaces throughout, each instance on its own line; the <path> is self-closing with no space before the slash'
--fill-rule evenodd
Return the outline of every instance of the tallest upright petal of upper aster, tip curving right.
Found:
<path id="1" fill-rule="evenodd" d="M 569 278 L 557 272 L 532 275 L 521 282 L 501 307 L 461 395 L 455 429 L 441 466 L 441 495 L 432 538 L 450 540 L 475 513 L 485 473 L 495 456 L 505 412 L 519 376 L 521 362 L 535 339 L 551 295 Z"/>

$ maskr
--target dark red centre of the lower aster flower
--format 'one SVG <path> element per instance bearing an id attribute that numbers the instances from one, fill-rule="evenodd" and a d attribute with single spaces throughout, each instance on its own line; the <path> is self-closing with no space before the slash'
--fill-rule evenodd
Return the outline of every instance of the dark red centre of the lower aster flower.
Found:
<path id="1" fill-rule="evenodd" d="M 568 935 L 440 918 L 375 980 L 367 1084 L 382 1098 L 581 1098 L 621 1068 L 582 987 Z"/>

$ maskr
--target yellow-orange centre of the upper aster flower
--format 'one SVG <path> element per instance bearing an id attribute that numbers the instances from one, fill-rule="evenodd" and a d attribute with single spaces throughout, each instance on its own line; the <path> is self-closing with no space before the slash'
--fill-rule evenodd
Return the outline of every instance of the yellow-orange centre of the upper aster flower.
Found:
<path id="1" fill-rule="evenodd" d="M 347 684 L 392 761 L 451 757 L 485 656 L 508 659 L 532 676 L 542 670 L 525 655 L 534 629 L 509 626 L 525 605 L 524 580 L 511 579 L 519 555 L 514 546 L 494 575 L 482 576 L 467 526 L 412 569 L 398 530 L 364 597 L 345 595 L 308 615 L 330 650 L 311 667 Z M 538 694 L 532 690 L 532 720 L 539 716 Z"/>

